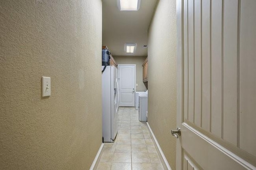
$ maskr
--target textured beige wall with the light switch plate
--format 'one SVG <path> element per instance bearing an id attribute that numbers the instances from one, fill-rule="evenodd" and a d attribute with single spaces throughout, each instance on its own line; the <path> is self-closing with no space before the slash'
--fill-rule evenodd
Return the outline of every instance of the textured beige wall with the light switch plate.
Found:
<path id="1" fill-rule="evenodd" d="M 102 143 L 102 0 L 1 0 L 0 23 L 0 169 L 88 170 Z"/>

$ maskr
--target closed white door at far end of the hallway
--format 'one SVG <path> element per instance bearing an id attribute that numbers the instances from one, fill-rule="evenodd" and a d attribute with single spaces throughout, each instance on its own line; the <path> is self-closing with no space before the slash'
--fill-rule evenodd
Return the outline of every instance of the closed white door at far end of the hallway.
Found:
<path id="1" fill-rule="evenodd" d="M 118 65 L 119 106 L 134 107 L 135 65 Z"/>

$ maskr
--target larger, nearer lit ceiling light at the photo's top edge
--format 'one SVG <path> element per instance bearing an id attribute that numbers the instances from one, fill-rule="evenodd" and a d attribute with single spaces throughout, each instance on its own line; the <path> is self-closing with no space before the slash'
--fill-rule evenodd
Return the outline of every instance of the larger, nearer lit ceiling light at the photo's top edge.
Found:
<path id="1" fill-rule="evenodd" d="M 117 0 L 120 11 L 138 11 L 140 9 L 140 0 Z"/>

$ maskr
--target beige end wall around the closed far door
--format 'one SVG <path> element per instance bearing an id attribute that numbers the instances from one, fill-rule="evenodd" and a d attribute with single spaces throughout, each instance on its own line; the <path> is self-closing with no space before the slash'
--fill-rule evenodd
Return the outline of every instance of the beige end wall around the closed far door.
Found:
<path id="1" fill-rule="evenodd" d="M 136 64 L 136 91 L 146 91 L 147 88 L 142 81 L 142 64 L 146 56 L 114 56 L 118 64 Z"/>

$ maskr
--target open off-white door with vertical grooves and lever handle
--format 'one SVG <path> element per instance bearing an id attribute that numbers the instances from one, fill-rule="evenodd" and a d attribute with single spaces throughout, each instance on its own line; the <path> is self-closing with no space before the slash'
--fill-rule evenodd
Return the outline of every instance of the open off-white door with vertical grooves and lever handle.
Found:
<path id="1" fill-rule="evenodd" d="M 177 0 L 177 170 L 256 169 L 256 0 Z"/>

